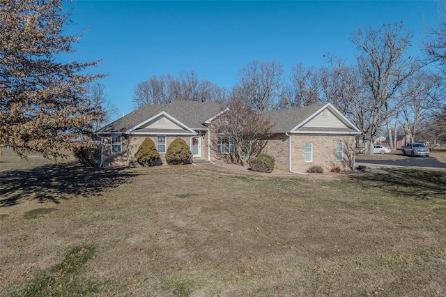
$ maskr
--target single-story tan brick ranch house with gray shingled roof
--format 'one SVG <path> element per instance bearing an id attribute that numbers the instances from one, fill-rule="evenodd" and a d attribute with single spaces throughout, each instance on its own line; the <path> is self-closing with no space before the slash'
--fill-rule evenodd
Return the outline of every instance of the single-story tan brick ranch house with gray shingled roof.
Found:
<path id="1" fill-rule="evenodd" d="M 180 137 L 190 144 L 194 162 L 227 162 L 234 144 L 215 130 L 226 112 L 217 102 L 176 100 L 145 105 L 97 131 L 102 139 L 102 165 L 137 165 L 134 153 L 146 137 L 162 156 Z M 275 168 L 306 172 L 314 165 L 324 171 L 354 168 L 355 135 L 360 130 L 330 103 L 268 112 L 274 124 L 264 152 L 276 159 Z"/>

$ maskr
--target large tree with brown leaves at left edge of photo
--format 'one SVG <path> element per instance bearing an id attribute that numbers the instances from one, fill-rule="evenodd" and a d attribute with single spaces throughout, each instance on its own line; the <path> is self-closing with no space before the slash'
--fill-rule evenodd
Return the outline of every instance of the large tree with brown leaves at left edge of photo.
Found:
<path id="1" fill-rule="evenodd" d="M 67 21 L 61 0 L 0 0 L 0 144 L 22 156 L 61 157 L 96 120 L 82 93 L 101 75 L 80 72 L 98 61 L 56 61 L 80 38 L 63 35 Z"/>

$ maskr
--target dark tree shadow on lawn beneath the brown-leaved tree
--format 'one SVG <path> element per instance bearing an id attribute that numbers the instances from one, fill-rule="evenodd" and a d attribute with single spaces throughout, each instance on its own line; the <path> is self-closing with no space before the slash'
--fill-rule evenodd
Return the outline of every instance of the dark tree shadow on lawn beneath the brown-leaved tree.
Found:
<path id="1" fill-rule="evenodd" d="M 100 169 L 75 163 L 1 172 L 0 207 L 14 206 L 26 198 L 59 204 L 72 196 L 101 195 L 133 175 L 123 168 Z"/>

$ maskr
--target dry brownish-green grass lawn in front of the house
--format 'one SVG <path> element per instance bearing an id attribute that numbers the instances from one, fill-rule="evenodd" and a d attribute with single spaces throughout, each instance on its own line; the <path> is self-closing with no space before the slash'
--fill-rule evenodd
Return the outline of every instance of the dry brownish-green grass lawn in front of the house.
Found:
<path id="1" fill-rule="evenodd" d="M 0 296 L 446 294 L 445 170 L 4 161 Z"/>

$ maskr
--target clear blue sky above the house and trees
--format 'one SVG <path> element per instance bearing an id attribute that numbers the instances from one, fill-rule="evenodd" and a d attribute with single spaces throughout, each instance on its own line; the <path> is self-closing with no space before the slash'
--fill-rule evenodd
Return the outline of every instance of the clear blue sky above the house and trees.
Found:
<path id="1" fill-rule="evenodd" d="M 70 59 L 103 59 L 90 73 L 109 75 L 107 98 L 120 116 L 133 110 L 134 86 L 152 75 L 194 70 L 217 86 L 236 84 L 254 59 L 320 67 L 324 54 L 354 63 L 349 40 L 360 27 L 405 22 L 410 54 L 421 56 L 426 26 L 438 22 L 436 1 L 82 1 L 67 33 L 82 33 Z M 87 32 L 84 33 L 84 31 Z M 114 116 L 117 119 L 119 116 Z"/>

